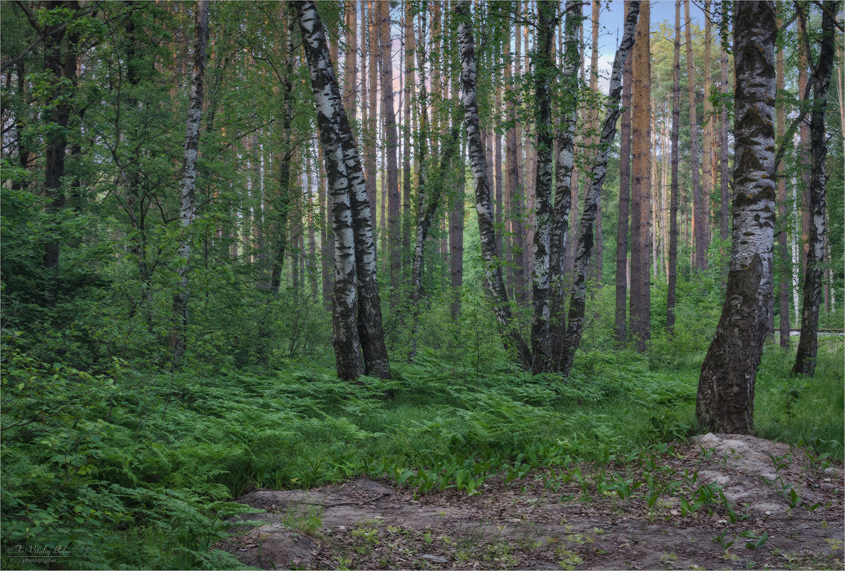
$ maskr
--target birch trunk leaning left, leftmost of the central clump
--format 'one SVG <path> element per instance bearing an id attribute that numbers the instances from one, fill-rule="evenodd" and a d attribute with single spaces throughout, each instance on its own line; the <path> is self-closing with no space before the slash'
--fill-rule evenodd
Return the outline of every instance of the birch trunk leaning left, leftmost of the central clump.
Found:
<path id="1" fill-rule="evenodd" d="M 508 293 L 504 289 L 499 252 L 496 251 L 496 226 L 493 206 L 490 204 L 487 157 L 484 154 L 484 146 L 481 142 L 481 129 L 478 127 L 475 39 L 472 37 L 469 2 L 456 3 L 455 18 L 459 21 L 458 43 L 461 47 L 462 102 L 464 122 L 466 123 L 466 142 L 469 147 L 470 166 L 472 168 L 472 184 L 475 187 L 484 277 L 487 280 L 490 296 L 493 298 L 493 311 L 496 313 L 496 319 L 499 322 L 505 348 L 515 349 L 522 365 L 529 368 L 532 363 L 531 350 L 516 329 L 513 314 L 510 311 Z"/>

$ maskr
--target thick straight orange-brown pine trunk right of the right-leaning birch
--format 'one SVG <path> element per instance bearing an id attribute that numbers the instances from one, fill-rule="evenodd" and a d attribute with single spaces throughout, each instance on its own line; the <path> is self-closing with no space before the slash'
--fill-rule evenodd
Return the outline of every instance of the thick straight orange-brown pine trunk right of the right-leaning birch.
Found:
<path id="1" fill-rule="evenodd" d="M 649 287 L 648 226 L 651 218 L 651 63 L 649 51 L 649 9 L 641 6 L 631 71 L 634 76 L 631 101 L 633 180 L 631 184 L 631 285 L 630 331 L 637 349 L 646 351 L 651 334 L 651 291 Z"/>

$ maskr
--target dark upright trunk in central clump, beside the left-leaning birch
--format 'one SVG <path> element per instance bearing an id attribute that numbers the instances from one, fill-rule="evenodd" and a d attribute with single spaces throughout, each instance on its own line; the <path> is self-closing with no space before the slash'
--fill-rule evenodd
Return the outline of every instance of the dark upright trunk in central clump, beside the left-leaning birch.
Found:
<path id="1" fill-rule="evenodd" d="M 549 249 L 552 218 L 552 45 L 554 41 L 553 3 L 540 3 L 537 24 L 537 52 L 534 56 L 534 120 L 537 125 L 537 177 L 534 181 L 536 215 L 534 217 L 534 264 L 532 271 L 531 345 L 533 371 L 550 370 L 549 345 Z"/>

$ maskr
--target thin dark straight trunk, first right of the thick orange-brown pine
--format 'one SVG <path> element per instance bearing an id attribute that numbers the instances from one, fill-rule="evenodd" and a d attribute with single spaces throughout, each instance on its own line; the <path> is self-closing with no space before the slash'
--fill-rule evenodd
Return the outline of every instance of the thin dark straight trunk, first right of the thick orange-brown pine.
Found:
<path id="1" fill-rule="evenodd" d="M 681 0 L 675 0 L 675 46 L 672 79 L 672 198 L 669 204 L 669 269 L 666 296 L 666 330 L 675 329 L 675 287 L 678 281 L 678 139 L 681 98 Z"/>

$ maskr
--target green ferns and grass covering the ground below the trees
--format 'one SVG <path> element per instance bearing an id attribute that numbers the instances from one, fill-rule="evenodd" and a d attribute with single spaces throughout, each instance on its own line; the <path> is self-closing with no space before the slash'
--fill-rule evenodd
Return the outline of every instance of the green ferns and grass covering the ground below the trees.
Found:
<path id="1" fill-rule="evenodd" d="M 761 435 L 842 458 L 841 344 L 812 382 L 766 352 Z M 788 370 L 788 368 L 786 368 Z M 389 477 L 417 492 L 475 494 L 542 466 L 607 464 L 695 432 L 696 367 L 652 370 L 629 351 L 582 356 L 569 379 L 495 359 L 423 354 L 394 378 L 346 383 L 298 362 L 219 376 L 91 375 L 3 351 L 3 566 L 237 568 L 212 549 L 256 487 Z M 24 563 L 23 550 L 53 550 Z M 19 551 L 15 551 L 19 550 Z M 43 553 L 43 552 L 38 552 Z"/>

